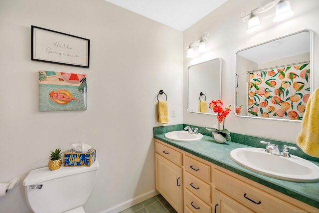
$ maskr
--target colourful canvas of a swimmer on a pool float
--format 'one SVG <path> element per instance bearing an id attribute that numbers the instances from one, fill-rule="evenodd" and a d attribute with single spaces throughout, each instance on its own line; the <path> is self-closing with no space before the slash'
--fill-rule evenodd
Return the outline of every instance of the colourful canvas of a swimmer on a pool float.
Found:
<path id="1" fill-rule="evenodd" d="M 86 110 L 85 74 L 39 70 L 39 111 Z"/>

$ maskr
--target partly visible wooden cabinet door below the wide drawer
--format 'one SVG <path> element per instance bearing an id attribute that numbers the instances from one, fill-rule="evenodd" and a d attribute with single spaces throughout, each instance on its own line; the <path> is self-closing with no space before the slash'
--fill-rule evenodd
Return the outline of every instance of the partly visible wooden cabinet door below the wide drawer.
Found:
<path id="1" fill-rule="evenodd" d="M 215 190 L 215 212 L 214 213 L 253 213 L 253 211 L 237 203 L 228 196 Z"/>

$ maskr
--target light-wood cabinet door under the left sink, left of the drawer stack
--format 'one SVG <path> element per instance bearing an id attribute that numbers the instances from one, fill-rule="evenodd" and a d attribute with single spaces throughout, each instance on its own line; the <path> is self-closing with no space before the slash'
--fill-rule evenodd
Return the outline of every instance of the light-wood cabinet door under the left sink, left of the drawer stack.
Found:
<path id="1" fill-rule="evenodd" d="M 155 155 L 156 189 L 178 213 L 183 212 L 182 168 Z"/>

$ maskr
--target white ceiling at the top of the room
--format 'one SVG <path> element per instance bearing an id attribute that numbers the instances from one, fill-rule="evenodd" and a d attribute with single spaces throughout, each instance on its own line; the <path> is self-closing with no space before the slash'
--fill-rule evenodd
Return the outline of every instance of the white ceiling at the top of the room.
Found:
<path id="1" fill-rule="evenodd" d="M 106 0 L 184 31 L 227 0 Z"/>

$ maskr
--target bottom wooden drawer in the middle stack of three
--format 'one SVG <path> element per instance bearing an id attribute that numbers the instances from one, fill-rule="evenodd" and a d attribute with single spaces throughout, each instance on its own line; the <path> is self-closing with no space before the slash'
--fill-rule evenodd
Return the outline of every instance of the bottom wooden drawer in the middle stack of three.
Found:
<path id="1" fill-rule="evenodd" d="M 211 207 L 187 189 L 184 190 L 184 208 L 185 207 L 188 207 L 194 213 L 211 213 Z"/>

